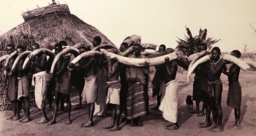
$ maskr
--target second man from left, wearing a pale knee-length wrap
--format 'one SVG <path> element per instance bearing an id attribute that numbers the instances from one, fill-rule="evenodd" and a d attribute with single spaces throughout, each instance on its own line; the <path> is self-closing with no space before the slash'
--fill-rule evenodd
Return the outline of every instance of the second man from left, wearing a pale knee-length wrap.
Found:
<path id="1" fill-rule="evenodd" d="M 18 55 L 20 55 L 24 51 L 25 51 L 25 47 L 23 46 L 17 47 Z M 29 79 L 29 76 L 28 76 L 30 67 L 26 67 L 23 69 L 24 60 L 25 58 L 21 59 L 18 62 L 17 68 L 15 70 L 10 71 L 11 75 L 12 73 L 15 73 L 15 72 L 18 73 L 18 100 L 21 102 L 23 106 L 23 111 L 25 113 L 24 118 L 20 119 L 20 122 L 22 123 L 31 121 L 30 115 L 29 115 L 29 91 L 30 91 L 29 81 L 31 80 Z M 17 111 L 17 112 L 20 112 L 20 111 Z"/>

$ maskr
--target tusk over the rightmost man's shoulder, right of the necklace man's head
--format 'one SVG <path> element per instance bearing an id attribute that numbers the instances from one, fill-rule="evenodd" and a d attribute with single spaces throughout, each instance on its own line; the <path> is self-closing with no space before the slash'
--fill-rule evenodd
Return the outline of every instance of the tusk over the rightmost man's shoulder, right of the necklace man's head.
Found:
<path id="1" fill-rule="evenodd" d="M 250 66 L 247 63 L 245 63 L 243 60 L 241 60 L 237 57 L 234 57 L 232 55 L 223 55 L 222 59 L 238 65 L 244 71 L 246 71 L 250 68 Z"/>

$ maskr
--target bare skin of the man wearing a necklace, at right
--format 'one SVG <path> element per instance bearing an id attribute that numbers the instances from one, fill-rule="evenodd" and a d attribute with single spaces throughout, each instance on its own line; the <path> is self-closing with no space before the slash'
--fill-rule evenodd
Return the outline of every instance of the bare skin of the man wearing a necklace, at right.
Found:
<path id="1" fill-rule="evenodd" d="M 218 81 L 222 74 L 222 71 L 226 69 L 225 61 L 220 59 L 220 52 L 217 50 L 211 50 L 211 60 L 206 63 L 206 67 L 210 69 L 208 71 L 208 81 Z M 209 98 L 209 106 L 207 113 L 213 114 L 214 125 L 208 129 L 211 132 L 221 132 L 222 131 L 222 85 L 214 84 L 214 97 Z M 210 116 L 206 119 L 206 127 L 210 126 Z"/>

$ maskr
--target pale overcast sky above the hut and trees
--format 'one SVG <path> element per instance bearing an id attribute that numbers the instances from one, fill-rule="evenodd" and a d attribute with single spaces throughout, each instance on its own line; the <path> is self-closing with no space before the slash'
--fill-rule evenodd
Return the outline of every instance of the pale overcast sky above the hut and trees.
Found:
<path id="1" fill-rule="evenodd" d="M 56 0 L 57 1 L 57 0 Z M 0 34 L 23 23 L 21 14 L 45 7 L 51 0 L 1 1 Z M 139 35 L 143 43 L 176 47 L 184 39 L 185 26 L 192 35 L 207 28 L 208 37 L 221 39 L 214 46 L 224 52 L 239 49 L 256 52 L 255 0 L 59 0 L 81 20 L 93 25 L 116 46 L 126 36 Z M 252 26 L 251 26 L 251 25 Z"/>

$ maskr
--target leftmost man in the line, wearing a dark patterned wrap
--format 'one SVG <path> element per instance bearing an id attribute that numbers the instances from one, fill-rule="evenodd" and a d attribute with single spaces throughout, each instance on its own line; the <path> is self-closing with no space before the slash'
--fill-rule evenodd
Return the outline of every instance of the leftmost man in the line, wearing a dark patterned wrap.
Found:
<path id="1" fill-rule="evenodd" d="M 7 54 L 10 55 L 12 52 L 15 51 L 15 45 L 8 44 L 7 47 Z M 18 55 L 15 55 L 10 59 L 9 64 L 4 71 L 7 71 L 7 74 L 4 75 L 4 88 L 7 88 L 7 99 L 12 103 L 12 116 L 8 117 L 7 120 L 18 120 L 20 119 L 20 102 L 18 100 L 18 79 L 17 79 L 17 72 L 9 74 L 12 65 Z M 7 86 L 8 81 L 8 86 Z"/>

